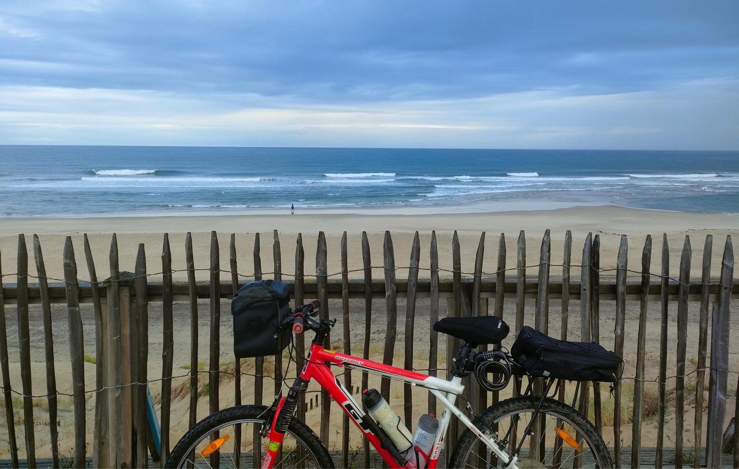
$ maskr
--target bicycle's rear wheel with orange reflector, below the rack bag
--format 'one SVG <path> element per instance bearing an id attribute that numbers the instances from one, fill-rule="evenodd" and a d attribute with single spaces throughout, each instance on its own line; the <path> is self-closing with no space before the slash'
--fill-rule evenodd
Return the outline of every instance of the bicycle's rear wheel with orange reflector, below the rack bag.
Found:
<path id="1" fill-rule="evenodd" d="M 517 462 L 519 468 L 613 468 L 608 448 L 593 424 L 562 402 L 544 399 L 542 412 L 529 432 L 532 434 L 524 434 L 539 398 L 506 399 L 477 416 L 474 425 L 486 433 L 497 431 L 508 453 L 512 453 L 523 439 Z M 543 430 L 538 425 L 542 422 Z M 449 467 L 502 468 L 503 463 L 467 429 L 454 447 Z"/>

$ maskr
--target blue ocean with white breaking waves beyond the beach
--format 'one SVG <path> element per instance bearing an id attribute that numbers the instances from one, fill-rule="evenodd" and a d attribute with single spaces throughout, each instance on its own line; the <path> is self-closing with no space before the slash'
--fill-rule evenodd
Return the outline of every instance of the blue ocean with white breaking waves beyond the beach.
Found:
<path id="1" fill-rule="evenodd" d="M 739 152 L 0 146 L 1 217 L 613 203 L 739 213 Z"/>

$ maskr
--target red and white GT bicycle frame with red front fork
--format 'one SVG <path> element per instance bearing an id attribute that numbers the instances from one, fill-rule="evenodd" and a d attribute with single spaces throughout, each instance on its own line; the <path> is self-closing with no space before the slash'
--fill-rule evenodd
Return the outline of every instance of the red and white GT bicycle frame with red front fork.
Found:
<path id="1" fill-rule="evenodd" d="M 467 416 L 462 413 L 462 411 L 454 406 L 454 401 L 456 400 L 457 395 L 461 394 L 464 389 L 464 386 L 461 385 L 461 377 L 454 377 L 451 381 L 447 381 L 446 379 L 430 377 L 426 374 L 404 370 L 403 368 L 395 368 L 394 366 L 384 365 L 382 363 L 373 362 L 372 360 L 363 360 L 351 355 L 344 355 L 338 352 L 324 350 L 320 344 L 311 343 L 310 354 L 307 356 L 307 361 L 303 366 L 299 378 L 304 379 L 305 382 L 310 382 L 310 379 L 316 379 L 316 382 L 321 385 L 321 388 L 324 388 L 324 390 L 328 392 L 329 397 L 338 402 L 338 405 L 341 406 L 341 410 L 344 411 L 344 414 L 347 414 L 349 419 L 354 422 L 354 425 L 359 428 L 369 443 L 372 444 L 378 453 L 380 453 L 380 456 L 382 456 L 382 459 L 384 459 L 390 468 L 415 468 L 415 465 L 413 465 L 412 462 L 408 462 L 405 466 L 399 465 L 389 451 L 382 448 L 378 436 L 375 435 L 375 433 L 372 433 L 364 423 L 363 416 L 365 413 L 362 411 L 361 405 L 358 405 L 350 392 L 341 385 L 341 382 L 339 382 L 336 376 L 334 376 L 333 371 L 331 371 L 331 368 L 327 363 L 333 363 L 339 367 L 358 369 L 361 371 L 367 371 L 371 374 L 378 374 L 383 377 L 410 382 L 412 385 L 427 388 L 429 392 L 439 399 L 439 401 L 444 405 L 444 411 L 439 422 L 439 429 L 437 430 L 434 445 L 432 446 L 432 451 L 426 468 L 433 469 L 437 467 L 441 445 L 443 444 L 446 428 L 449 426 L 452 414 L 457 416 L 464 425 L 470 428 L 472 432 L 485 442 L 486 445 L 488 445 L 488 448 L 491 448 L 491 451 L 497 454 L 501 462 L 505 463 L 511 459 L 511 455 L 498 448 L 497 441 L 494 439 L 494 436 L 487 435 L 483 431 L 480 431 L 472 424 Z M 284 404 L 285 397 L 282 397 L 279 400 L 273 417 L 273 425 L 268 432 L 270 443 L 265 459 L 262 462 L 262 468 L 273 467 L 277 451 L 279 450 L 279 446 L 282 444 L 282 439 L 285 436 L 285 433 L 279 433 L 275 428 L 275 423 L 278 421 L 280 411 L 282 411 L 282 406 Z M 515 468 L 515 461 L 513 461 L 509 467 Z"/>

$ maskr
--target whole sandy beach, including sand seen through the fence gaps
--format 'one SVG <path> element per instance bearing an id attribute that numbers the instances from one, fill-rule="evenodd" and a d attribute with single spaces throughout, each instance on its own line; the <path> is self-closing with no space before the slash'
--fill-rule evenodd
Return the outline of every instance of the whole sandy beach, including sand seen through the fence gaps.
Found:
<path id="1" fill-rule="evenodd" d="M 220 243 L 220 261 L 221 266 L 228 266 L 228 238 L 229 234 L 236 234 L 236 248 L 239 259 L 239 271 L 246 274 L 253 272 L 252 250 L 254 233 L 259 232 L 262 242 L 262 269 L 265 272 L 272 270 L 272 251 L 273 251 L 273 229 L 279 231 L 279 239 L 282 248 L 282 265 L 286 272 L 293 271 L 293 260 L 295 250 L 296 233 L 302 232 L 305 247 L 305 269 L 308 272 L 314 271 L 315 254 L 316 254 L 316 234 L 324 231 L 327 234 L 328 245 L 328 271 L 330 273 L 341 270 L 338 252 L 341 234 L 344 230 L 348 233 L 349 247 L 349 266 L 350 269 L 356 269 L 361 266 L 361 232 L 367 231 L 372 251 L 372 264 L 374 266 L 381 265 L 382 243 L 384 239 L 384 230 L 392 232 L 392 240 L 395 246 L 395 262 L 398 266 L 407 266 L 409 251 L 412 243 L 412 237 L 415 230 L 420 234 L 421 242 L 421 258 L 422 267 L 427 267 L 429 263 L 429 243 L 431 232 L 435 230 L 438 238 L 439 260 L 440 266 L 444 269 L 452 269 L 452 235 L 456 229 L 460 237 L 462 267 L 463 271 L 471 271 L 474 264 L 474 254 L 477 251 L 477 243 L 480 240 L 480 232 L 486 232 L 486 252 L 483 271 L 494 271 L 497 263 L 497 250 L 499 245 L 499 236 L 503 232 L 505 234 L 506 243 L 506 260 L 508 266 L 513 266 L 516 256 L 516 242 L 519 230 L 523 229 L 526 233 L 527 243 L 527 263 L 529 265 L 538 263 L 539 248 L 541 245 L 542 235 L 545 229 L 551 230 L 552 249 L 551 262 L 560 263 L 562 260 L 562 246 L 564 242 L 565 232 L 568 229 L 573 233 L 573 255 L 572 263 L 579 263 L 582 255 L 582 242 L 588 232 L 600 234 L 602 241 L 601 248 L 601 266 L 610 268 L 615 266 L 616 253 L 618 251 L 620 234 L 628 234 L 630 241 L 629 264 L 631 269 L 640 269 L 641 266 L 641 249 L 644 243 L 644 237 L 651 234 L 653 240 L 652 255 L 652 271 L 660 271 L 660 252 L 662 233 L 667 232 L 667 239 L 670 243 L 670 265 L 673 274 L 676 274 L 679 265 L 680 250 L 684 242 L 684 236 L 689 234 L 692 240 L 693 254 L 693 271 L 692 276 L 699 274 L 698 265 L 703 255 L 704 239 L 706 234 L 714 236 L 713 262 L 712 270 L 714 274 L 718 274 L 721 264 L 721 255 L 723 254 L 723 243 L 726 234 L 739 234 L 739 217 L 726 215 L 702 215 L 688 214 L 679 212 L 654 212 L 636 209 L 624 209 L 618 206 L 594 206 L 594 207 L 575 207 L 568 209 L 554 209 L 545 211 L 525 211 L 525 212 L 451 212 L 445 214 L 378 214 L 370 211 L 362 213 L 325 213 L 311 212 L 299 215 L 212 215 L 212 216 L 167 216 L 167 217 L 91 217 L 84 219 L 5 219 L 0 223 L 0 248 L 2 252 L 2 269 L 4 274 L 13 273 L 16 270 L 16 249 L 17 234 L 24 232 L 27 237 L 28 249 L 30 252 L 29 267 L 32 274 L 33 269 L 33 245 L 31 237 L 38 234 L 41 239 L 41 245 L 44 250 L 47 271 L 50 277 L 61 277 L 61 250 L 64 238 L 71 235 L 75 243 L 75 249 L 78 253 L 78 269 L 79 277 L 86 280 L 88 278 L 84 257 L 82 254 L 82 234 L 87 233 L 92 243 L 92 251 L 95 256 L 98 275 L 106 277 L 108 269 L 108 250 L 113 232 L 118 235 L 118 247 L 120 251 L 120 269 L 133 270 L 134 258 L 138 243 L 145 243 L 148 260 L 149 271 L 160 271 L 159 258 L 162 246 L 162 234 L 168 232 L 170 234 L 170 243 L 173 253 L 173 268 L 184 269 L 184 239 L 186 232 L 192 232 L 195 252 L 195 265 L 197 268 L 207 268 L 209 265 L 209 243 L 210 231 L 216 230 L 219 234 Z M 556 277 L 561 273 L 560 269 L 553 268 L 552 276 Z M 200 278 L 207 278 L 207 271 L 199 272 Z M 353 273 L 358 276 L 361 272 Z M 423 275 L 423 271 L 421 273 Z M 528 275 L 536 274 L 536 269 L 528 269 Z M 375 271 L 375 275 L 381 275 L 381 271 Z M 632 275 L 632 274 L 630 274 Z M 153 276 L 152 280 L 156 280 Z M 265 274 L 265 277 L 270 277 Z M 182 273 L 177 274 L 176 280 L 184 280 Z M 15 278 L 4 277 L 5 283 L 14 282 Z M 33 282 L 33 280 L 32 280 Z M 400 364 L 403 362 L 403 343 L 405 336 L 403 334 L 403 323 L 405 320 L 405 300 L 398 300 L 398 340 L 396 342 L 395 362 Z M 506 300 L 504 309 L 504 319 L 509 323 L 514 322 L 514 301 Z M 231 352 L 232 330 L 231 317 L 228 314 L 228 301 L 222 302 L 222 337 L 221 337 L 221 368 L 224 371 L 233 371 L 234 359 Z M 569 333 L 573 339 L 579 337 L 579 302 L 572 301 L 570 305 L 570 327 Z M 732 308 L 732 309 L 735 309 Z M 372 318 L 372 348 L 371 357 L 375 360 L 381 360 L 382 344 L 384 343 L 384 328 L 386 325 L 386 317 L 384 314 L 384 300 L 375 300 L 373 306 Z M 54 317 L 54 338 L 55 350 L 58 356 L 56 363 L 57 381 L 60 391 L 69 392 L 71 383 L 68 381 L 69 376 L 69 358 L 68 358 L 68 331 L 66 312 L 63 305 L 55 305 L 52 308 Z M 339 318 L 339 323 L 332 335 L 332 342 L 335 348 L 341 349 L 341 315 L 340 302 L 334 300 L 330 304 L 332 316 Z M 415 366 L 417 368 L 428 367 L 428 331 L 430 324 L 428 318 L 429 300 L 422 298 L 418 300 L 418 310 L 416 312 L 416 324 L 418 331 L 414 340 Z M 533 325 L 534 302 L 529 300 L 527 303 L 526 323 Z M 440 314 L 446 315 L 446 303 L 441 306 Z M 602 343 L 607 348 L 613 347 L 613 326 L 614 326 L 614 305 L 613 301 L 603 301 L 601 305 L 601 331 Z M 675 331 L 675 303 L 670 304 L 670 341 L 668 345 L 668 357 L 675 357 L 676 348 L 676 331 Z M 82 307 L 82 315 L 84 321 L 85 334 L 85 351 L 88 354 L 94 354 L 95 351 L 95 331 L 92 320 L 92 308 L 89 305 Z M 160 357 L 161 357 L 161 308 L 157 303 L 151 303 L 149 308 L 150 315 L 150 345 L 149 345 L 149 376 L 161 376 Z M 18 364 L 18 335 L 16 332 L 16 311 L 13 306 L 7 306 L 7 328 L 9 337 L 9 348 L 11 363 L 10 369 L 13 375 L 13 388 L 20 388 L 19 364 Z M 188 371 L 183 368 L 188 365 L 189 358 L 189 316 L 188 306 L 185 303 L 179 303 L 174 308 L 175 320 L 175 353 L 174 353 L 174 375 L 184 375 Z M 559 300 L 553 300 L 550 306 L 550 334 L 559 336 Z M 352 345 L 355 353 L 360 353 L 360 346 L 364 340 L 364 303 L 359 300 L 350 302 L 350 330 L 352 331 Z M 698 303 L 691 303 L 689 308 L 689 333 L 688 333 L 688 353 L 689 364 L 688 371 L 695 368 L 695 357 L 698 351 Z M 41 309 L 38 305 L 30 308 L 30 324 L 32 337 L 42 337 L 43 326 L 41 321 Z M 200 331 L 207 331 L 209 327 L 209 314 L 207 301 L 200 303 Z M 624 358 L 626 360 L 626 371 L 624 372 L 624 402 L 626 402 L 626 411 L 630 413 L 630 399 L 633 394 L 633 378 L 634 365 L 636 362 L 636 340 L 638 332 L 638 302 L 629 302 L 627 308 L 626 321 L 626 343 Z M 736 337 L 739 333 L 739 324 L 732 324 L 732 337 Z M 208 361 L 208 340 L 207 333 L 202 334 L 203 340 L 200 341 L 199 360 Z M 514 337 L 511 334 L 505 341 L 505 345 L 510 346 Z M 440 360 L 444 357 L 444 338 L 440 337 Z M 659 306 L 657 303 L 651 303 L 647 320 L 647 379 L 656 379 L 658 370 L 658 346 L 659 346 Z M 33 385 L 35 394 L 44 394 L 45 392 L 45 374 L 44 374 L 44 352 L 43 341 L 32 340 L 32 361 L 33 361 Z M 739 345 L 731 346 L 730 368 L 732 370 L 739 369 Z M 286 359 L 287 360 L 287 359 Z M 86 388 L 94 388 L 95 366 L 92 363 L 86 363 Z M 204 365 L 207 368 L 207 365 Z M 270 361 L 265 365 L 265 371 L 269 373 Z M 440 367 L 445 366 L 440 362 Z M 675 374 L 675 360 L 668 359 L 668 375 Z M 253 360 L 244 360 L 242 362 L 242 371 L 245 373 L 253 372 Z M 355 384 L 359 382 L 360 374 L 354 374 Z M 203 374 L 200 377 L 201 385 L 205 385 L 207 377 Z M 692 381 L 691 381 L 692 379 Z M 688 379 L 688 385 L 693 383 L 695 386 L 695 374 Z M 707 382 L 707 380 L 706 380 Z M 727 408 L 734 408 L 735 396 L 735 375 L 729 377 L 729 403 Z M 370 385 L 378 385 L 378 382 L 372 382 Z M 674 391 L 675 381 L 672 379 L 668 383 L 668 406 L 672 405 L 672 410 L 668 411 L 667 434 L 674 439 Z M 655 383 L 648 382 L 647 390 L 650 399 L 655 396 Z M 158 383 L 152 383 L 152 394 L 157 403 L 160 403 L 160 387 Z M 270 400 L 273 392 L 273 384 L 270 380 L 265 380 L 265 403 Z M 414 414 L 421 414 L 426 411 L 426 393 L 420 389 L 415 389 L 418 394 L 415 396 Z M 607 400 L 607 388 L 604 389 L 604 399 Z M 689 396 L 692 391 L 687 392 Z M 502 393 L 505 397 L 509 394 L 509 389 Z M 315 394 L 308 394 L 309 397 L 315 397 Z M 392 391 L 392 404 L 396 407 L 396 411 L 400 412 L 402 408 L 402 388 L 397 386 Z M 72 447 L 72 402 L 60 398 L 60 442 L 61 448 L 67 451 Z M 221 406 L 226 407 L 233 405 L 234 399 L 234 382 L 231 377 L 224 375 L 222 377 L 220 401 Z M 245 403 L 253 402 L 253 379 L 245 377 L 242 383 L 242 399 Z M 44 422 L 47 414 L 44 412 L 44 399 L 39 400 L 38 408 L 35 408 L 35 420 Z M 203 417 L 207 414 L 208 396 L 200 397 L 198 416 Z M 36 405 L 36 404 L 34 404 Z M 687 415 L 686 415 L 686 441 L 692 443 L 692 408 L 694 402 L 687 398 Z M 94 409 L 94 399 L 92 394 L 88 398 L 88 425 L 89 438 L 92 439 L 92 411 Z M 669 409 L 668 409 L 669 410 Z M 16 408 L 16 417 L 19 410 Z M 0 408 L 0 414 L 4 413 L 4 408 Z M 729 412 L 730 414 L 730 412 Z M 176 441 L 187 428 L 188 415 L 188 378 L 182 377 L 175 379 L 173 382 L 173 403 L 172 403 L 172 428 L 171 437 Z M 317 432 L 319 430 L 318 408 L 313 408 L 307 414 L 308 424 Z M 4 420 L 4 417 L 0 415 Z M 592 417 L 591 417 L 592 418 Z M 729 418 L 727 414 L 727 419 Z M 338 422 L 341 422 L 338 408 L 332 411 L 332 422 L 336 425 L 336 429 L 340 428 Z M 605 419 L 607 422 L 607 418 Z M 607 427 L 607 425 L 604 425 Z M 4 427 L 4 426 L 2 426 Z M 332 427 L 333 428 L 333 427 Z M 644 445 L 653 445 L 655 432 L 650 429 L 656 428 L 654 416 L 648 416 L 644 424 Z M 705 428 L 705 426 L 704 426 Z M 18 424 L 18 435 L 22 435 L 22 426 Z M 4 428 L 0 428 L 0 437 L 4 437 Z M 331 433 L 331 442 L 333 446 L 334 435 Z M 630 444 L 630 425 L 623 428 L 624 445 Z M 610 428 L 604 428 L 604 437 L 613 445 L 613 434 Z M 48 455 L 48 435 L 47 428 L 43 423 L 37 426 L 37 444 L 39 446 L 37 454 L 39 456 Z M 338 442 L 341 440 L 338 439 Z M 340 443 L 339 443 L 340 444 Z M 22 448 L 24 443 L 22 437 L 18 439 L 18 445 Z M 352 445 L 361 445 L 358 433 L 352 433 Z M 670 445 L 667 441 L 666 445 Z M 67 451 L 69 452 L 69 451 Z M 0 451 L 0 457 L 7 457 Z"/>

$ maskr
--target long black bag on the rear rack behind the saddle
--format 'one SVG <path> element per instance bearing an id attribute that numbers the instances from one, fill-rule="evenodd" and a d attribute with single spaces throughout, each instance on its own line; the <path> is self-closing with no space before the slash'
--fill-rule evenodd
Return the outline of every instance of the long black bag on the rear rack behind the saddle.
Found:
<path id="1" fill-rule="evenodd" d="M 556 340 L 525 325 L 511 355 L 534 377 L 570 379 L 572 381 L 619 380 L 621 358 L 594 342 Z"/>

